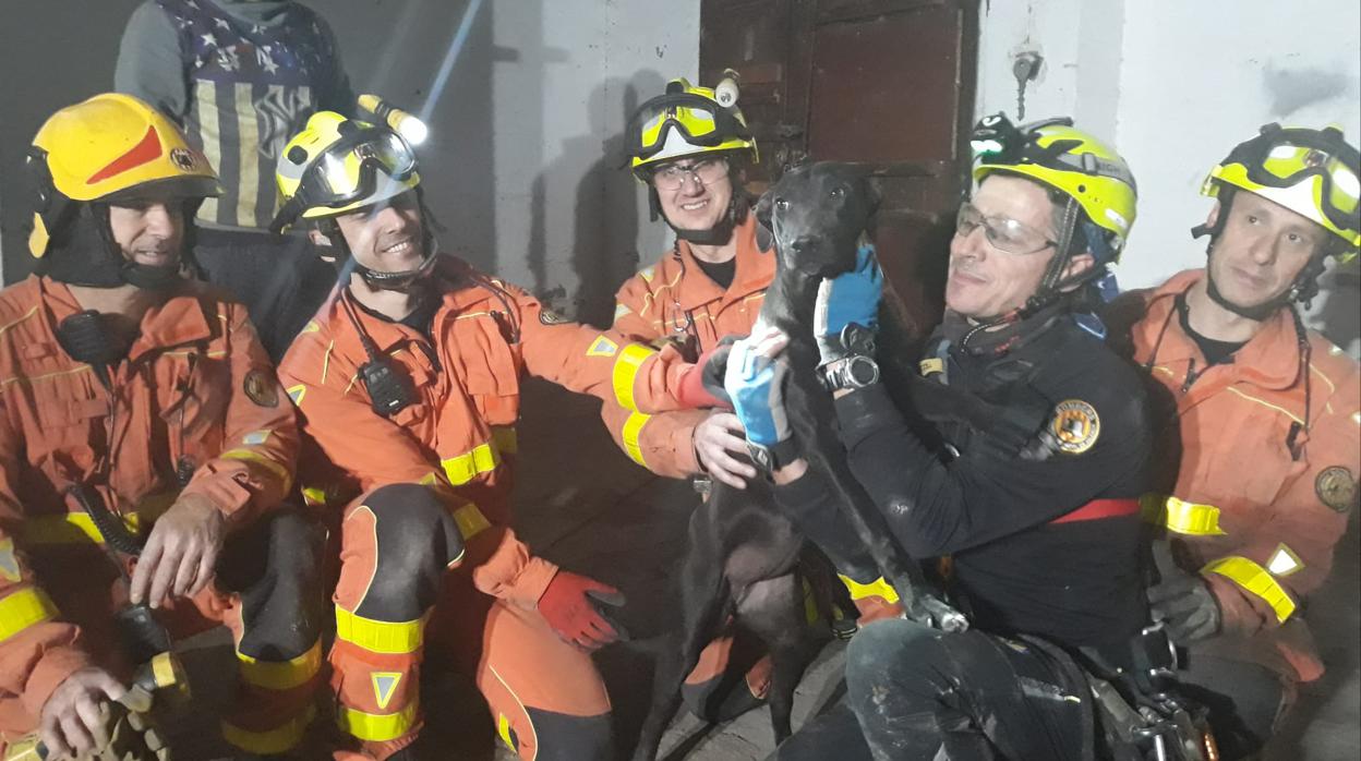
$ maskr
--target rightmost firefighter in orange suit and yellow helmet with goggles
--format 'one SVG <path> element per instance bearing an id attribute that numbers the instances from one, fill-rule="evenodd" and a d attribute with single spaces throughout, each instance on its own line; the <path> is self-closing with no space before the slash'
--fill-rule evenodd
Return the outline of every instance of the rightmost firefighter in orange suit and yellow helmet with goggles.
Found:
<path id="1" fill-rule="evenodd" d="M 1194 233 L 1210 237 L 1209 265 L 1115 306 L 1115 335 L 1165 402 L 1165 491 L 1145 512 L 1176 569 L 1150 602 L 1188 649 L 1180 679 L 1226 758 L 1260 746 L 1296 685 L 1323 674 L 1301 606 L 1357 505 L 1361 374 L 1293 302 L 1317 293 L 1328 256 L 1356 256 L 1357 176 L 1341 131 L 1264 127 L 1204 181 L 1218 203 Z"/>

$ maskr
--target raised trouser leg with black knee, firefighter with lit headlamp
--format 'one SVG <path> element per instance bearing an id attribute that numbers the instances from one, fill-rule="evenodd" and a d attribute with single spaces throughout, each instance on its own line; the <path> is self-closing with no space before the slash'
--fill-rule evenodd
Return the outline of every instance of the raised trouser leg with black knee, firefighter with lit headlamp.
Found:
<path id="1" fill-rule="evenodd" d="M 419 485 L 374 490 L 340 527 L 331 686 L 336 724 L 384 758 L 415 741 L 425 625 L 450 564 L 459 521 Z"/>

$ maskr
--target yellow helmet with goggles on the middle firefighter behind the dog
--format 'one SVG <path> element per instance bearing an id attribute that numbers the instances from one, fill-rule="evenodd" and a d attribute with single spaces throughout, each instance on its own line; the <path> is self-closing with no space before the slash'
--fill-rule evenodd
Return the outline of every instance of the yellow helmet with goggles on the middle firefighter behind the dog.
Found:
<path id="1" fill-rule="evenodd" d="M 664 94 L 633 112 L 625 144 L 640 180 L 646 180 L 653 165 L 687 155 L 746 151 L 753 163 L 759 161 L 757 142 L 736 105 L 735 76 L 728 72 L 717 87 L 672 79 Z"/>

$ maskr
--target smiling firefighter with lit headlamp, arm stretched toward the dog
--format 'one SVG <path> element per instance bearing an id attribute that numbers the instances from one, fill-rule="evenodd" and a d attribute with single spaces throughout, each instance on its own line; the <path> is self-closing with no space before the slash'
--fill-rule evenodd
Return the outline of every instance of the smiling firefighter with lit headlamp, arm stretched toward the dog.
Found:
<path id="1" fill-rule="evenodd" d="M 279 162 L 278 222 L 312 225 L 352 267 L 280 366 L 309 440 L 306 494 L 335 508 L 342 538 L 331 663 L 352 741 L 338 757 L 410 753 L 429 638 L 476 678 L 521 757 L 607 758 L 610 702 L 588 652 L 617 638 L 608 614 L 623 600 L 509 528 L 520 376 L 675 408 L 679 355 L 566 323 L 440 255 L 418 184 L 400 136 L 329 112 Z"/>

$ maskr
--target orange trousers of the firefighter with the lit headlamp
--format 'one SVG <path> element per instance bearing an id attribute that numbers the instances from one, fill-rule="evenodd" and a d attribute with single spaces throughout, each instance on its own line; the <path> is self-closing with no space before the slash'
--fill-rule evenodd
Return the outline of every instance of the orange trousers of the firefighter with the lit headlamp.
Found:
<path id="1" fill-rule="evenodd" d="M 608 757 L 610 701 L 591 656 L 536 611 L 494 600 L 467 570 L 450 570 L 456 534 L 421 486 L 382 487 L 346 513 L 331 666 L 336 723 L 357 742 L 336 758 L 381 760 L 415 742 L 426 643 L 472 674 L 521 758 Z"/>

